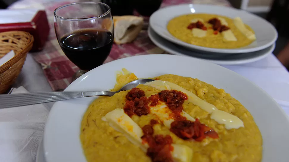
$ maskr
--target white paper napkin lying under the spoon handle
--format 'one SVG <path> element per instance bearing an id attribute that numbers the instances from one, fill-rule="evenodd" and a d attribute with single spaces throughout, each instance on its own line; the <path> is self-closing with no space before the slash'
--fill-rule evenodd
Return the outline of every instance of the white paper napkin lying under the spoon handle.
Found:
<path id="1" fill-rule="evenodd" d="M 28 93 L 24 87 L 11 93 Z M 48 110 L 37 104 L 0 109 L 0 162 L 34 162 Z"/>

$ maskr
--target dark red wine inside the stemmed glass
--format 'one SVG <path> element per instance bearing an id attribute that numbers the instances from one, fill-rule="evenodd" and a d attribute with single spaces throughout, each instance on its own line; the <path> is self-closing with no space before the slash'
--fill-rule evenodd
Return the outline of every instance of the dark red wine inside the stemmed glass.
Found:
<path id="1" fill-rule="evenodd" d="M 113 39 L 109 31 L 85 29 L 63 36 L 60 47 L 81 70 L 91 70 L 102 65 L 108 57 Z"/>

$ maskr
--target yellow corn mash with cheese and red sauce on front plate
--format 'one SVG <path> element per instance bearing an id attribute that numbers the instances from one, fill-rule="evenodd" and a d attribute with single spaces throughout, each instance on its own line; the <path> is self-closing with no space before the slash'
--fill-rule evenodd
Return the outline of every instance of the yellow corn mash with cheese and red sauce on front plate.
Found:
<path id="1" fill-rule="evenodd" d="M 112 91 L 137 79 L 124 69 Z M 80 129 L 88 162 L 262 160 L 261 133 L 230 94 L 190 77 L 154 79 L 91 103 Z"/>

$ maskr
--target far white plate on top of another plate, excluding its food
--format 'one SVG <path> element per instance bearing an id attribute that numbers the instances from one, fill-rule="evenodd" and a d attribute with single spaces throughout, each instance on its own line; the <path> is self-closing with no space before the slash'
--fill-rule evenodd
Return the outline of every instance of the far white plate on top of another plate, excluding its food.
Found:
<path id="1" fill-rule="evenodd" d="M 241 17 L 243 22 L 251 26 L 251 28 L 255 31 L 257 39 L 246 47 L 236 49 L 217 49 L 191 45 L 172 36 L 167 30 L 167 23 L 172 18 L 179 15 L 192 13 L 217 14 L 224 15 L 229 18 Z M 271 46 L 276 41 L 278 36 L 276 29 L 271 25 L 271 23 L 254 14 L 231 7 L 202 4 L 181 4 L 159 9 L 154 12 L 153 15 L 151 15 L 150 26 L 154 31 L 156 31 L 157 34 L 178 45 L 182 45 L 190 49 L 219 53 L 246 53 L 262 50 Z"/>

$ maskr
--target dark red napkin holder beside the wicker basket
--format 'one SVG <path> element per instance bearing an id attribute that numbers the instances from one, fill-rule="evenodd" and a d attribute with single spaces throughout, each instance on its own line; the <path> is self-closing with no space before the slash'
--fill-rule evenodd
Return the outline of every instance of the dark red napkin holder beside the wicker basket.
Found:
<path id="1" fill-rule="evenodd" d="M 34 37 L 32 52 L 42 50 L 50 30 L 46 12 L 43 10 L 37 11 L 31 22 L 0 24 L 0 32 L 16 30 L 27 31 Z"/>

